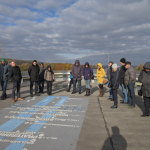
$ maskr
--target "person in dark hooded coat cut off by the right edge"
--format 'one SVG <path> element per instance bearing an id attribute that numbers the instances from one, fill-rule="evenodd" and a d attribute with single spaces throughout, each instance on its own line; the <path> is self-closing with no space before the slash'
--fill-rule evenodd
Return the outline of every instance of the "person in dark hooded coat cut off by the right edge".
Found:
<path id="1" fill-rule="evenodd" d="M 144 70 L 140 72 L 138 80 L 142 83 L 141 90 L 145 106 L 145 113 L 142 115 L 142 117 L 146 117 L 149 116 L 150 113 L 150 62 L 145 63 Z"/>

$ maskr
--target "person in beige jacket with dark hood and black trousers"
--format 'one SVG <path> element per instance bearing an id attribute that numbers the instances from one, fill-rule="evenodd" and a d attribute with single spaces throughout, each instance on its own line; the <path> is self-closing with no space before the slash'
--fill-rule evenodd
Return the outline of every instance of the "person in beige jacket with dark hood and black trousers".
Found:
<path id="1" fill-rule="evenodd" d="M 47 66 L 44 73 L 44 79 L 47 81 L 47 94 L 52 95 L 52 84 L 54 82 L 54 72 L 51 66 Z"/>

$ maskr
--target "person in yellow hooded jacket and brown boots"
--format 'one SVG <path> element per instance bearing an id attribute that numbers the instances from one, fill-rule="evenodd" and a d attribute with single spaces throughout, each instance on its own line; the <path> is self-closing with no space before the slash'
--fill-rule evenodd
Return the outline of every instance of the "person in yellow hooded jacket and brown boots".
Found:
<path id="1" fill-rule="evenodd" d="M 102 67 L 101 63 L 97 64 L 97 80 L 98 80 L 98 86 L 99 86 L 99 95 L 98 97 L 103 97 L 103 81 L 106 73 L 105 70 Z"/>

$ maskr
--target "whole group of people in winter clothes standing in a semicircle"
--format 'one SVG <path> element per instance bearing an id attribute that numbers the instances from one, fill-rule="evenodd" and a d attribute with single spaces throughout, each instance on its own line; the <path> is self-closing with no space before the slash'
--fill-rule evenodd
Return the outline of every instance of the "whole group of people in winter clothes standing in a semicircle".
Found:
<path id="1" fill-rule="evenodd" d="M 110 96 L 108 100 L 114 101 L 112 109 L 118 107 L 117 91 L 120 86 L 123 93 L 123 101 L 121 103 L 126 104 L 129 108 L 135 107 L 135 92 L 134 86 L 136 82 L 136 70 L 131 66 L 131 62 L 126 61 L 125 58 L 120 60 L 121 67 L 117 66 L 116 63 L 112 61 L 109 62 L 109 68 L 107 70 L 107 79 Z M 44 93 L 44 82 L 47 81 L 47 94 L 52 95 L 52 84 L 54 82 L 54 72 L 51 66 L 44 67 L 44 63 L 41 62 L 40 66 L 37 61 L 34 60 L 32 65 L 28 69 L 28 74 L 30 76 L 30 96 L 33 97 L 33 85 L 35 83 L 35 95 L 40 96 L 40 93 Z M 103 85 L 105 84 L 105 70 L 101 63 L 97 64 L 97 81 L 99 87 L 98 97 L 103 97 Z M 73 84 L 72 94 L 77 92 L 76 83 L 78 82 L 79 94 L 81 94 L 81 80 L 84 76 L 86 94 L 85 96 L 90 96 L 90 83 L 91 79 L 94 78 L 93 69 L 90 67 L 89 63 L 86 62 L 84 68 L 80 65 L 80 61 L 76 60 L 75 64 L 72 65 L 70 72 L 70 84 L 67 92 L 70 92 L 71 85 Z M 13 84 L 12 89 L 12 101 L 15 102 L 15 91 L 17 89 L 18 100 L 24 100 L 20 96 L 20 84 L 22 80 L 22 75 L 20 68 L 16 66 L 15 62 L 12 61 L 10 65 L 8 62 L 2 58 L 0 65 L 0 81 L 2 87 L 1 100 L 7 98 L 6 88 L 8 80 L 11 79 Z M 143 117 L 149 116 L 150 107 L 150 62 L 147 62 L 143 70 L 141 71 L 139 82 L 142 83 L 141 92 L 144 97 L 145 113 Z M 38 90 L 39 89 L 39 90 Z"/>

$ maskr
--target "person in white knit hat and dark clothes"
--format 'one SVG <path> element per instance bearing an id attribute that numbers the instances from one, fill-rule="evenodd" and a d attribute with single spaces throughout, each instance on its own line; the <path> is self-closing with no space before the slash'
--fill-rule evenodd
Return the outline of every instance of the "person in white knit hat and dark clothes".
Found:
<path id="1" fill-rule="evenodd" d="M 117 91 L 119 88 L 119 69 L 117 64 L 112 65 L 112 74 L 111 74 L 111 88 L 113 91 L 113 100 L 114 100 L 114 105 L 111 107 L 112 109 L 118 107 L 118 96 L 117 96 Z"/>

